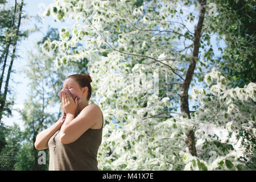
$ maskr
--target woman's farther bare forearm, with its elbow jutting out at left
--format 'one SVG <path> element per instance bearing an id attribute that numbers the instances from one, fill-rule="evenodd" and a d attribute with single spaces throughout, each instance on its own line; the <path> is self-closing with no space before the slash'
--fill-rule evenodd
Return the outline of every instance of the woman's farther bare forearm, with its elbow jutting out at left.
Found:
<path id="1" fill-rule="evenodd" d="M 61 125 L 63 125 L 63 122 L 61 122 L 61 118 L 54 123 L 52 126 L 48 127 L 48 129 L 41 131 L 36 136 L 36 141 L 34 143 L 34 146 L 37 150 L 43 150 L 48 148 L 48 141 L 52 137 L 53 134 L 56 133 L 57 130 L 60 129 Z"/>

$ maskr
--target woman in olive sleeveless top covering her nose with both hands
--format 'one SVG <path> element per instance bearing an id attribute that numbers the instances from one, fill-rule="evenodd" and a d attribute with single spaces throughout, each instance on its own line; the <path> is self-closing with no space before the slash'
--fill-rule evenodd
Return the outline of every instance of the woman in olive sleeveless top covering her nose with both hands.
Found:
<path id="1" fill-rule="evenodd" d="M 36 137 L 37 150 L 49 148 L 49 170 L 98 171 L 97 153 L 104 118 L 99 106 L 88 105 L 92 95 L 90 82 L 92 78 L 86 74 L 70 75 L 65 79 L 63 89 L 81 98 L 80 107 L 77 100 L 63 94 L 61 110 L 65 113 L 65 121 L 60 118 Z"/>

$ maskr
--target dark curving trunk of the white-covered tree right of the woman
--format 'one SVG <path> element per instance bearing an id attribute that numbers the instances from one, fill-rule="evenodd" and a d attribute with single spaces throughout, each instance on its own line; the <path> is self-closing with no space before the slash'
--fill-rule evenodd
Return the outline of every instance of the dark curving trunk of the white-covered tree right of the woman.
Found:
<path id="1" fill-rule="evenodd" d="M 184 113 L 187 115 L 187 117 L 190 119 L 190 111 L 188 107 L 188 89 L 189 89 L 189 84 L 191 83 L 193 73 L 196 68 L 196 59 L 199 55 L 199 48 L 200 48 L 200 38 L 201 38 L 201 30 L 203 27 L 203 22 L 204 22 L 204 15 L 205 15 L 205 6 L 207 3 L 207 0 L 201 0 L 199 1 L 201 5 L 200 9 L 200 16 L 199 16 L 199 21 L 197 23 L 196 29 L 195 29 L 195 38 L 194 38 L 194 45 L 193 45 L 193 57 L 191 64 L 188 67 L 187 75 L 186 78 L 183 82 L 183 84 L 180 85 L 180 110 L 181 113 Z M 194 131 L 190 130 L 188 131 L 186 143 L 189 149 L 189 152 L 193 156 L 197 156 L 196 154 L 196 145 L 195 145 L 195 135 Z"/>

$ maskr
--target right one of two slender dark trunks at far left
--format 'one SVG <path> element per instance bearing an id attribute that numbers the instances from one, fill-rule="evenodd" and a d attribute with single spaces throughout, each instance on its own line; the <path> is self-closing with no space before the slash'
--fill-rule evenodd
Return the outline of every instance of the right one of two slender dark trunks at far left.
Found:
<path id="1" fill-rule="evenodd" d="M 6 82 L 5 82 L 5 92 L 3 93 L 3 97 L 2 97 L 2 101 L 1 101 L 1 106 L 0 106 L 0 110 L 3 111 L 3 107 L 5 106 L 5 101 L 6 101 L 6 95 L 7 95 L 7 90 L 8 90 L 8 86 L 9 86 L 9 79 L 10 79 L 10 75 L 11 75 L 11 68 L 13 67 L 13 61 L 14 61 L 14 57 L 15 57 L 15 51 L 16 51 L 16 45 L 17 45 L 17 41 L 18 41 L 18 35 L 19 35 L 19 27 L 20 27 L 20 21 L 21 21 L 21 17 L 22 17 L 22 7 L 23 7 L 23 0 L 20 4 L 20 8 L 19 8 L 19 21 L 18 21 L 18 27 L 16 30 L 16 40 L 14 42 L 14 46 L 13 46 L 13 54 L 11 55 L 11 62 L 9 65 L 9 69 L 8 69 L 8 73 L 7 73 L 7 78 L 6 78 Z M 0 122 L 2 119 L 2 113 L 0 113 Z"/>

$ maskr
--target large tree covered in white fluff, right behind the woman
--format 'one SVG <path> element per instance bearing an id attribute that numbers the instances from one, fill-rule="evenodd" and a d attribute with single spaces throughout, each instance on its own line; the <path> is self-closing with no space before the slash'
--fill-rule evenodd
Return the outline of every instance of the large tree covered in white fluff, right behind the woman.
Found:
<path id="1" fill-rule="evenodd" d="M 216 61 L 210 33 L 220 31 L 216 22 L 224 15 L 220 13 L 214 18 L 213 14 L 222 12 L 222 7 L 212 2 L 56 0 L 47 7 L 45 15 L 60 21 L 76 21 L 71 28 L 60 28 L 61 41 L 44 43 L 44 51 L 59 48 L 62 52 L 55 68 L 69 60 L 80 61 L 84 57 L 89 60 L 90 75 L 94 78 L 92 87 L 96 89 L 94 93 L 99 97 L 106 123 L 98 152 L 99 168 L 246 168 L 237 160 L 241 156 L 249 159 L 242 148 L 252 146 L 251 140 L 243 141 L 242 147 L 237 142 L 242 141 L 245 134 L 240 138 L 236 134 L 228 135 L 230 141 L 205 134 L 207 126 L 218 122 L 221 124 L 216 127 L 233 134 L 226 128 L 231 127 L 230 122 L 237 115 L 243 115 L 242 122 L 248 130 L 236 129 L 234 124 L 233 129 L 249 132 L 249 138 L 255 137 L 254 115 L 248 114 L 250 107 L 238 105 L 240 113 L 234 115 L 233 107 L 228 109 L 230 105 L 222 101 L 224 91 L 229 100 L 235 98 L 228 94 L 232 88 L 221 90 L 232 78 L 225 80 L 221 72 L 212 69 Z M 198 14 L 189 12 L 191 9 L 196 9 Z M 193 30 L 189 30 L 187 24 L 194 27 Z M 77 43 L 84 43 L 84 48 L 73 51 Z M 196 68 L 200 72 L 194 74 Z M 209 75 L 204 77 L 205 73 Z M 192 79 L 193 75 L 197 79 Z M 191 111 L 189 86 L 195 86 L 197 80 L 204 78 L 209 93 L 205 89 L 203 93 L 193 89 L 192 95 L 201 98 L 201 106 Z M 214 79 L 217 84 L 211 82 Z M 254 89 L 255 84 L 251 83 L 242 92 L 248 99 L 254 96 L 255 102 Z M 238 102 L 245 101 L 239 98 Z M 249 104 L 250 100 L 246 102 Z M 254 102 L 249 106 L 254 106 Z M 217 108 L 216 113 L 213 108 Z M 208 150 L 209 155 L 205 156 Z"/>

